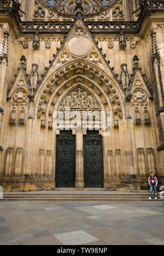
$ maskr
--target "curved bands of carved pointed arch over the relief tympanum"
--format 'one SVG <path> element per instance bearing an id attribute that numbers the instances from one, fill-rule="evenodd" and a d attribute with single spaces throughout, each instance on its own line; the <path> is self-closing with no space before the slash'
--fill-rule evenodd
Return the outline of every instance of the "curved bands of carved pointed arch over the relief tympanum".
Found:
<path id="1" fill-rule="evenodd" d="M 58 100 L 65 90 L 71 88 L 72 84 L 78 83 L 80 80 L 83 80 L 83 84 L 91 88 L 98 96 L 101 96 L 105 108 L 107 108 L 107 105 L 111 105 L 113 113 L 118 114 L 120 118 L 123 117 L 125 114 L 125 94 L 119 84 L 116 83 L 113 75 L 107 74 L 104 69 L 97 67 L 90 61 L 82 59 L 68 62 L 67 65 L 58 68 L 56 72 L 51 73 L 48 78 L 43 80 L 35 95 L 36 111 L 34 114 L 38 113 L 39 106 L 42 103 L 47 109 L 55 95 L 58 95 Z"/>

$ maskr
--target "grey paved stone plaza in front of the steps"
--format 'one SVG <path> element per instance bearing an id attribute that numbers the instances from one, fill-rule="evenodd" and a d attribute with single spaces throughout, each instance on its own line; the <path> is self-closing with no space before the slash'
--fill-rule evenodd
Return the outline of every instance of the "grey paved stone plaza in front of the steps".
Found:
<path id="1" fill-rule="evenodd" d="M 0 245 L 164 245 L 163 202 L 1 201 Z"/>

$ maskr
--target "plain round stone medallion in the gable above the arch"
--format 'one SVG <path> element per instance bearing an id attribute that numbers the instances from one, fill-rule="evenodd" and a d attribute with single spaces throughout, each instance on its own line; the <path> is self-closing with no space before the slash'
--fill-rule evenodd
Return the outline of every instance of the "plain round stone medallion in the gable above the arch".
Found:
<path id="1" fill-rule="evenodd" d="M 73 37 L 69 40 L 68 49 L 75 56 L 84 56 L 91 50 L 90 40 L 83 36 Z"/>

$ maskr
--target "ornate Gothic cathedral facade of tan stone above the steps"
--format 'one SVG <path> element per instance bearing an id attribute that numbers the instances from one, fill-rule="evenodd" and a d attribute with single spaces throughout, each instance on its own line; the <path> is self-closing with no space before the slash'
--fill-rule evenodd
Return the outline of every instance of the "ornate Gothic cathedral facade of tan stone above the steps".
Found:
<path id="1" fill-rule="evenodd" d="M 0 185 L 164 182 L 164 1 L 0 0 Z"/>

